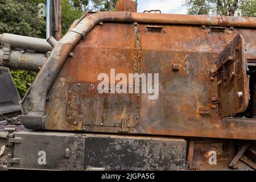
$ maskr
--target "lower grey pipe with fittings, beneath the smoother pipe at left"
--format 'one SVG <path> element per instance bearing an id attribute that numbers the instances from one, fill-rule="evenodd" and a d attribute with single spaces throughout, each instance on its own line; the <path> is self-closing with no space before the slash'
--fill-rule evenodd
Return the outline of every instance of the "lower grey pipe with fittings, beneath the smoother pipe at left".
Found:
<path id="1" fill-rule="evenodd" d="M 3 49 L 0 49 L 0 59 L 2 55 Z M 39 68 L 42 68 L 42 65 L 46 63 L 46 60 L 43 53 L 22 52 L 18 49 L 12 49 L 9 60 L 3 61 L 2 64 L 9 68 L 38 72 Z"/>

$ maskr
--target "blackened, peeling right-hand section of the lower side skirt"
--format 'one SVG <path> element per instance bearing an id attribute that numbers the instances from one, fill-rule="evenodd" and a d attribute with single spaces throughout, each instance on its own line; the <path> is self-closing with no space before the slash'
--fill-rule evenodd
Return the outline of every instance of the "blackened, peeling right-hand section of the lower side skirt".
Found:
<path id="1" fill-rule="evenodd" d="M 85 165 L 118 170 L 184 170 L 187 142 L 156 137 L 86 137 Z"/>

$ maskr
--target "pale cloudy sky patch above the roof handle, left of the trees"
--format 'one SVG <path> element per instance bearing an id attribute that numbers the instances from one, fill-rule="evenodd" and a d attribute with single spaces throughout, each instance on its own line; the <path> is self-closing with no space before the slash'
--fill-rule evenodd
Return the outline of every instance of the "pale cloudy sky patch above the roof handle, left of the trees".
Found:
<path id="1" fill-rule="evenodd" d="M 186 7 L 182 6 L 184 0 L 138 0 L 138 12 L 144 10 L 161 10 L 162 13 L 187 14 Z"/>

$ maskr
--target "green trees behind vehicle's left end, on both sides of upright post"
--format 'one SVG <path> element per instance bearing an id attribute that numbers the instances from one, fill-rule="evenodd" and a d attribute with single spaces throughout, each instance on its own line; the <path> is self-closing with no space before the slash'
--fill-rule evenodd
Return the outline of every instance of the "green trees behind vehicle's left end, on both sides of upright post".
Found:
<path id="1" fill-rule="evenodd" d="M 85 11 L 115 10 L 117 0 L 62 0 L 63 35 Z M 0 0 L 0 34 L 10 33 L 46 38 L 46 18 L 38 16 L 39 3 L 46 0 Z M 24 96 L 36 73 L 13 70 L 11 74 L 21 97 Z"/>

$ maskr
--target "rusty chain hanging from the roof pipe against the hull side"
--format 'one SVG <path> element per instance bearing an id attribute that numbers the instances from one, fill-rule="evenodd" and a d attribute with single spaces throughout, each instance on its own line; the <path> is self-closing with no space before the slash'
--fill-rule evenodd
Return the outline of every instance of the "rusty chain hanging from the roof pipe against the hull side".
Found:
<path id="1" fill-rule="evenodd" d="M 142 46 L 141 46 L 141 29 L 139 28 L 139 24 L 137 22 L 133 23 L 133 31 L 134 31 L 134 73 L 141 75 L 142 73 Z"/>

